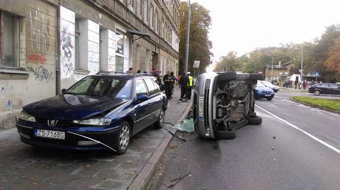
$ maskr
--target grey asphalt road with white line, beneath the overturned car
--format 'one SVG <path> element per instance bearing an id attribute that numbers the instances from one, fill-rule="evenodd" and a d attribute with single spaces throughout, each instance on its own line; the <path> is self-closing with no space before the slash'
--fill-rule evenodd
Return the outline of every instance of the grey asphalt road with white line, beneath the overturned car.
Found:
<path id="1" fill-rule="evenodd" d="M 179 133 L 187 141 L 174 138 L 147 189 L 338 189 L 340 115 L 292 102 L 289 93 L 256 101 L 263 123 L 233 140 Z"/>

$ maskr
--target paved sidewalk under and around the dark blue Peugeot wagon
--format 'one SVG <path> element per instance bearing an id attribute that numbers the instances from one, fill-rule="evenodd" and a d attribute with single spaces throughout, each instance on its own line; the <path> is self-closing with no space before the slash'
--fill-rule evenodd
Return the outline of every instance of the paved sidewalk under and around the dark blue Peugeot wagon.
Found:
<path id="1" fill-rule="evenodd" d="M 180 88 L 165 112 L 166 123 L 185 118 L 192 101 L 180 102 Z M 0 189 L 143 189 L 176 132 L 145 129 L 132 137 L 123 155 L 35 148 L 19 140 L 15 128 L 0 131 Z"/>

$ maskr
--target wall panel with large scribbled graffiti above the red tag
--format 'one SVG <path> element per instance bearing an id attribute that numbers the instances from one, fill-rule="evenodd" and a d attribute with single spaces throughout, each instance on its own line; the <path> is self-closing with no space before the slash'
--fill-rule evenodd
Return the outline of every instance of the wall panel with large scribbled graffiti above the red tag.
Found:
<path id="1" fill-rule="evenodd" d="M 31 47 L 40 53 L 51 53 L 51 19 L 38 10 L 30 11 Z"/>

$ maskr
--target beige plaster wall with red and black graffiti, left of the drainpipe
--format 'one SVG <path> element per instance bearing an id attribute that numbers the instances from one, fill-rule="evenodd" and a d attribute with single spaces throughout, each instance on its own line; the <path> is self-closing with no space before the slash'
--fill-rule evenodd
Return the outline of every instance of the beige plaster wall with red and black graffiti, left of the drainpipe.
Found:
<path id="1" fill-rule="evenodd" d="M 14 116 L 24 105 L 55 95 L 57 5 L 53 3 L 0 2 L 1 10 L 19 17 L 19 67 L 27 73 L 0 80 L 0 130 L 15 127 Z"/>

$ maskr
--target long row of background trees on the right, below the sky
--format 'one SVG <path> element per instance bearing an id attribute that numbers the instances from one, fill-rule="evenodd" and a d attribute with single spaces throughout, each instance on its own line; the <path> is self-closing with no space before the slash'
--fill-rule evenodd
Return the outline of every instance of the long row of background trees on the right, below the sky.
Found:
<path id="1" fill-rule="evenodd" d="M 312 74 L 316 71 L 325 82 L 340 81 L 340 39 L 337 43 L 336 39 L 340 37 L 340 25 L 331 25 L 326 28 L 325 33 L 320 39 L 315 39 L 314 42 L 304 42 L 301 44 L 281 44 L 280 47 L 259 47 L 256 50 L 244 54 L 241 57 L 230 57 L 230 52 L 227 56 L 222 56 L 217 63 L 215 70 L 238 69 L 244 73 L 254 73 L 256 63 L 256 72 L 262 70 L 265 72 L 265 66 L 272 64 L 278 65 L 291 62 L 293 67 L 291 73 L 297 69 L 301 69 L 301 51 L 303 51 L 303 73 Z M 237 55 L 233 52 L 233 55 Z M 243 58 L 242 58 L 243 57 Z M 236 61 L 232 61 L 235 59 Z"/>

